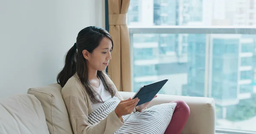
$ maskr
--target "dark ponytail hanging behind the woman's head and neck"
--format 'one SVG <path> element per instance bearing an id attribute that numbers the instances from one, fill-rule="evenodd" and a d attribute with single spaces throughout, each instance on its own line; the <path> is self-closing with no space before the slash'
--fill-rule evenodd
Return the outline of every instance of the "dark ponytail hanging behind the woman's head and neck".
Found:
<path id="1" fill-rule="evenodd" d="M 67 80 L 71 78 L 76 73 L 76 62 L 77 62 L 77 46 L 76 43 L 67 52 L 65 58 L 65 65 L 57 76 L 57 82 L 64 87 Z"/>

